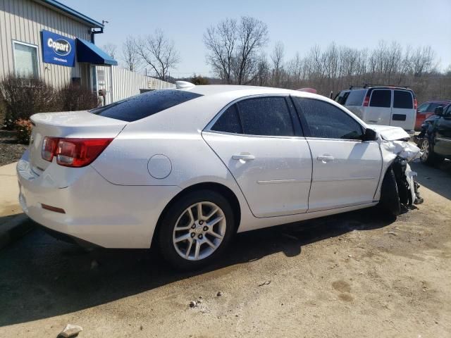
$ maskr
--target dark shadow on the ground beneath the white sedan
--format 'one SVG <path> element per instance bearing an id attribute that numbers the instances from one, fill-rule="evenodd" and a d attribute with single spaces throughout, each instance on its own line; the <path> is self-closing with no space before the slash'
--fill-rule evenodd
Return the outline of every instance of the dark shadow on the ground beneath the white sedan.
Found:
<path id="1" fill-rule="evenodd" d="M 59 242 L 42 230 L 0 252 L 0 326 L 73 313 L 352 230 L 385 227 L 376 208 L 237 234 L 226 255 L 204 270 L 172 270 L 156 251 L 93 249 Z"/>

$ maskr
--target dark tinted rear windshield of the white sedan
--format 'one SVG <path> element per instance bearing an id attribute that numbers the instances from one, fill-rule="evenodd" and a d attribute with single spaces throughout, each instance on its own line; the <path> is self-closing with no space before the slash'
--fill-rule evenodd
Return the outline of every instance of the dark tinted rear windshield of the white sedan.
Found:
<path id="1" fill-rule="evenodd" d="M 90 112 L 106 118 L 132 122 L 147 118 L 147 116 L 154 115 L 178 104 L 183 104 L 183 102 L 196 99 L 199 96 L 202 95 L 183 90 L 155 90 L 132 96 L 123 101 L 114 102 L 108 106 L 94 108 Z"/>

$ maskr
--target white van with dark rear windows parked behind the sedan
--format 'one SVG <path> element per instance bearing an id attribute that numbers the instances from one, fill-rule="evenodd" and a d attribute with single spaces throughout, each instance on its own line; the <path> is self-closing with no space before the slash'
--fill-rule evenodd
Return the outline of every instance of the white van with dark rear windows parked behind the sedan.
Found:
<path id="1" fill-rule="evenodd" d="M 406 87 L 350 87 L 335 96 L 335 101 L 348 108 L 366 123 L 402 127 L 414 134 L 416 98 Z"/>

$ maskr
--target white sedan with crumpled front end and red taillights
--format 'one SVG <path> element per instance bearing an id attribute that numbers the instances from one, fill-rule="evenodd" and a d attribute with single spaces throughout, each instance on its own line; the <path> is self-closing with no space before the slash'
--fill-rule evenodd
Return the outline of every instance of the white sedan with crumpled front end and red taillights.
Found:
<path id="1" fill-rule="evenodd" d="M 159 246 L 178 268 L 215 260 L 235 232 L 376 204 L 397 215 L 416 196 L 417 148 L 395 141 L 407 133 L 307 92 L 179 82 L 31 120 L 23 211 L 79 242 Z"/>

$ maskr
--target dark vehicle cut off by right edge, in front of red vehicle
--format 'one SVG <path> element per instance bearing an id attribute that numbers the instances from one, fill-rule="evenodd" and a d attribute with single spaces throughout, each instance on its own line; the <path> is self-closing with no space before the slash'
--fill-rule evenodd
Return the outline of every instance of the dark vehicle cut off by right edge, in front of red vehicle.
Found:
<path id="1" fill-rule="evenodd" d="M 423 152 L 421 162 L 438 163 L 451 158 L 451 104 L 438 106 L 435 114 L 424 120 L 416 143 Z"/>

